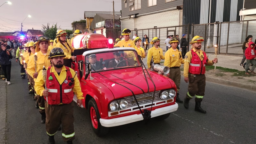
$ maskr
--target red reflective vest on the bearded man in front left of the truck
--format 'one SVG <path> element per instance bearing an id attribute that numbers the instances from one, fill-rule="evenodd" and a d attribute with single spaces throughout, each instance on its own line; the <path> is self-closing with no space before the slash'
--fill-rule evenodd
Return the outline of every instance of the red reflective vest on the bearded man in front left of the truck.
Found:
<path id="1" fill-rule="evenodd" d="M 66 67 L 66 66 L 65 66 Z M 71 82 L 72 74 L 70 73 L 69 67 L 66 67 L 66 80 L 59 84 L 54 73 L 51 73 L 51 66 L 47 70 L 46 86 L 49 89 L 48 91 L 48 104 L 49 105 L 59 105 L 60 103 L 69 104 L 72 102 L 74 97 L 73 87 L 74 83 L 69 86 Z M 53 80 L 49 80 L 49 77 L 52 76 Z"/>

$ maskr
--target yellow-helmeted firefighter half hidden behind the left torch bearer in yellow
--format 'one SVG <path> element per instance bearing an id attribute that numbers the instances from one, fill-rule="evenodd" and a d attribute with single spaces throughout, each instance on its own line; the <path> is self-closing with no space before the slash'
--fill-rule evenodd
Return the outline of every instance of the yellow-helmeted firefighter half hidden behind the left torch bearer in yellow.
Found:
<path id="1" fill-rule="evenodd" d="M 27 51 L 29 52 L 29 54 L 27 54 L 25 56 L 25 63 L 29 62 L 29 58 L 34 59 L 34 57 L 30 57 L 30 56 L 34 55 L 34 53 L 35 53 L 35 44 L 36 44 L 36 42 L 35 43 L 34 42 L 30 42 L 29 43 L 29 45 L 27 47 Z M 27 73 L 27 71 L 26 71 L 26 73 Z M 29 79 L 29 83 L 30 83 L 31 89 L 32 89 L 31 91 L 29 91 L 30 93 L 32 92 L 32 99 L 33 100 L 37 100 L 37 97 L 35 96 L 35 93 L 34 93 L 34 79 L 28 73 L 27 73 L 27 77 Z M 37 109 L 39 108 L 37 102 L 35 104 L 35 108 L 37 108 Z"/>

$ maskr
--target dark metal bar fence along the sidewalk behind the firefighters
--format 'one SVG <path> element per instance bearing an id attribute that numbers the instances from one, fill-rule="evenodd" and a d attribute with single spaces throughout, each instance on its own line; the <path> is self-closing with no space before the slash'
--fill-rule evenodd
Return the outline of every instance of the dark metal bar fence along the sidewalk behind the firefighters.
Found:
<path id="1" fill-rule="evenodd" d="M 256 38 L 256 20 L 243 20 L 243 21 L 230 21 L 230 22 L 218 22 L 207 24 L 188 24 L 183 26 L 170 26 L 170 27 L 155 27 L 141 30 L 131 30 L 131 39 L 137 33 L 141 39 L 146 34 L 150 41 L 154 37 L 161 39 L 160 47 L 165 50 L 165 39 L 167 35 L 179 35 L 187 34 L 187 41 L 195 36 L 199 35 L 204 37 L 202 42 L 202 50 L 208 53 L 214 53 L 214 45 L 219 46 L 218 53 L 220 54 L 236 54 L 242 55 L 241 49 L 246 37 L 248 35 L 253 36 L 253 42 Z M 119 31 L 121 34 L 121 31 Z M 150 48 L 152 46 L 150 45 Z M 191 45 L 189 45 L 191 47 Z M 188 48 L 188 51 L 190 49 Z"/>

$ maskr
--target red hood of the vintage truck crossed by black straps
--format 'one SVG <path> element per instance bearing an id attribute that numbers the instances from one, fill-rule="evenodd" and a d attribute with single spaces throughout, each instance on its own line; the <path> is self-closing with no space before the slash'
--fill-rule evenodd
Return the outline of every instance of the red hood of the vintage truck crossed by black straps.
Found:
<path id="1" fill-rule="evenodd" d="M 153 92 L 154 84 L 156 91 L 175 87 L 168 77 L 148 70 L 153 83 L 146 70 L 144 72 L 146 78 L 141 67 L 93 73 L 92 76 L 109 88 L 115 99 L 132 96 L 133 93 L 138 95 Z"/>

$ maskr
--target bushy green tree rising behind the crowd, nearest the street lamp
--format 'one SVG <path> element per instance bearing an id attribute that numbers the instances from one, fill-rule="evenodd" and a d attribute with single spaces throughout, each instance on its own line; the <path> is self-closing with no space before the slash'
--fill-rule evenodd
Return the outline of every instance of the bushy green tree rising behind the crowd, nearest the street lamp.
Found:
<path id="1" fill-rule="evenodd" d="M 49 23 L 47 23 L 46 26 L 42 24 L 42 32 L 49 39 L 55 39 L 56 38 L 56 32 L 57 32 L 58 28 L 59 27 L 57 27 L 57 23 L 52 24 L 52 27 L 50 27 Z"/>

